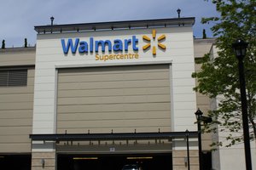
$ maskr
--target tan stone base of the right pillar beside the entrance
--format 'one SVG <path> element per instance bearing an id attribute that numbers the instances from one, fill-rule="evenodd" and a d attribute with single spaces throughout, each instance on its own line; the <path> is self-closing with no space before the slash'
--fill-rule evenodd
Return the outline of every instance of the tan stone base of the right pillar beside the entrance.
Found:
<path id="1" fill-rule="evenodd" d="M 185 164 L 187 157 L 187 150 L 173 150 L 172 151 L 172 167 L 173 170 L 187 170 L 188 164 Z M 199 169 L 198 150 L 189 150 L 190 170 Z"/>

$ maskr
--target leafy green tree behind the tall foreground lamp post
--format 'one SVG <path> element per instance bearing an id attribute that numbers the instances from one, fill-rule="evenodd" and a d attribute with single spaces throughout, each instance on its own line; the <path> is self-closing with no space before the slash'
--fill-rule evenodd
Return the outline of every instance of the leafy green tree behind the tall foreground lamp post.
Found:
<path id="1" fill-rule="evenodd" d="M 217 37 L 218 57 L 210 59 L 206 54 L 201 60 L 201 71 L 192 77 L 199 82 L 195 91 L 218 99 L 217 111 L 209 111 L 213 122 L 220 125 L 220 131 L 230 133 L 225 137 L 231 146 L 242 142 L 241 101 L 237 59 L 232 50 L 232 42 L 241 38 L 248 42 L 247 56 L 244 59 L 247 83 L 247 110 L 250 127 L 250 138 L 256 138 L 256 1 L 255 0 L 212 0 L 219 12 L 219 17 L 203 18 L 201 22 L 213 22 L 213 36 Z M 208 132 L 215 132 L 214 127 L 205 127 Z M 241 135 L 238 135 L 238 134 Z M 218 143 L 213 143 L 222 145 Z"/>

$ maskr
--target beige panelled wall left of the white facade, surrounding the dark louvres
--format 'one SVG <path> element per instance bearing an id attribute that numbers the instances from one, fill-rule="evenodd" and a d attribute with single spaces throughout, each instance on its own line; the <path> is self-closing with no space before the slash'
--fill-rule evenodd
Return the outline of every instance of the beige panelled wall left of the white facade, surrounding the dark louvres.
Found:
<path id="1" fill-rule="evenodd" d="M 0 152 L 30 152 L 35 48 L 0 50 L 0 70 L 27 69 L 27 85 L 0 87 Z"/>

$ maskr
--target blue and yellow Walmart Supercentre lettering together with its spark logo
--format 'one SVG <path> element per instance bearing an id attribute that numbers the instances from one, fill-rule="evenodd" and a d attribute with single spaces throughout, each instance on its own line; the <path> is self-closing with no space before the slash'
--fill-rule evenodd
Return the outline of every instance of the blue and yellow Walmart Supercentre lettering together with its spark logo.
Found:
<path id="1" fill-rule="evenodd" d="M 166 40 L 166 35 L 160 35 L 160 37 L 156 36 L 156 31 L 152 30 L 152 38 L 148 36 L 143 36 L 143 42 L 146 42 L 143 45 L 143 51 L 148 51 L 152 46 L 152 54 L 156 54 L 156 46 L 152 45 L 152 42 L 157 42 L 158 48 L 166 50 L 166 45 L 162 42 Z M 139 54 L 138 51 L 138 38 L 136 36 L 132 36 L 131 38 L 127 38 L 125 40 L 114 39 L 110 40 L 94 40 L 93 37 L 90 37 L 89 41 L 80 41 L 79 38 L 75 39 L 61 39 L 62 50 L 64 54 L 68 54 L 71 51 L 72 54 L 76 54 L 79 51 L 79 54 L 87 54 L 96 52 L 95 59 L 107 61 L 109 59 L 138 59 Z M 133 53 L 128 53 L 128 48 L 131 47 Z M 98 54 L 99 51 L 105 52 L 108 50 L 109 54 Z M 125 51 L 125 53 L 123 53 Z M 116 53 L 112 53 L 116 52 Z"/>

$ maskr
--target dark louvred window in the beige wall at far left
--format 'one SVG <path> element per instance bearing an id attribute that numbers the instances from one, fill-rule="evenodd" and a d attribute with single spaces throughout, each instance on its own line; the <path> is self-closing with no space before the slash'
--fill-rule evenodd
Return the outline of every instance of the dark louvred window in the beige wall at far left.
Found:
<path id="1" fill-rule="evenodd" d="M 26 86 L 27 70 L 0 71 L 0 87 Z"/>

